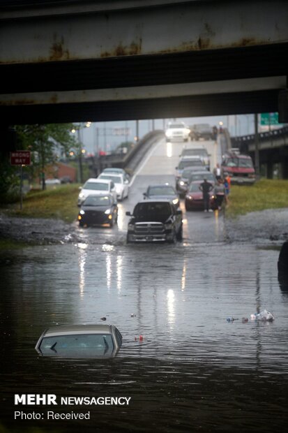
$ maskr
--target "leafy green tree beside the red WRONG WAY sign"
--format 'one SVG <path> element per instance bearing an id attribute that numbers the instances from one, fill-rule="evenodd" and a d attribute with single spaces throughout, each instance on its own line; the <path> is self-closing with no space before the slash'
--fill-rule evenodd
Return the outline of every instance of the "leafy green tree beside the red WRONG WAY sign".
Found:
<path id="1" fill-rule="evenodd" d="M 68 156 L 78 147 L 75 137 L 70 133 L 73 124 L 17 125 L 17 147 L 30 150 L 31 177 L 40 175 L 42 189 L 45 189 L 45 167 L 54 164 L 59 155 Z"/>

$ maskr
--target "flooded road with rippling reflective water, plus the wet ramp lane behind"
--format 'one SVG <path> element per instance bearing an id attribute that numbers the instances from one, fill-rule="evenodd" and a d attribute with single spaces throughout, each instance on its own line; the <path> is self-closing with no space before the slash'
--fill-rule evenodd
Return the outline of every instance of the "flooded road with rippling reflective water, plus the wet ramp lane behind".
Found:
<path id="1" fill-rule="evenodd" d="M 181 143 L 173 146 L 167 156 L 160 142 L 140 167 L 119 205 L 118 228 L 77 228 L 79 242 L 1 254 L 6 431 L 285 430 L 288 292 L 278 283 L 279 251 L 227 242 L 222 214 L 204 212 L 183 214 L 184 240 L 176 245 L 126 244 L 126 210 L 148 184 L 174 182 Z M 250 321 L 264 308 L 275 321 Z M 103 317 L 123 335 L 116 358 L 36 353 L 45 328 Z M 127 406 L 14 406 L 15 394 L 131 399 Z M 14 420 L 15 411 L 43 419 Z M 90 419 L 51 420 L 47 411 L 89 412 Z"/>

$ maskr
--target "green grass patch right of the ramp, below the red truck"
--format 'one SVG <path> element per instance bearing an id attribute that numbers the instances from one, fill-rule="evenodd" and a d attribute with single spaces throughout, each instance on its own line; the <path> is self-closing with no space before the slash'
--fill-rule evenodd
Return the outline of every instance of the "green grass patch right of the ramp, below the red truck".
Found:
<path id="1" fill-rule="evenodd" d="M 226 216 L 288 207 L 288 180 L 261 179 L 252 186 L 232 185 Z"/>

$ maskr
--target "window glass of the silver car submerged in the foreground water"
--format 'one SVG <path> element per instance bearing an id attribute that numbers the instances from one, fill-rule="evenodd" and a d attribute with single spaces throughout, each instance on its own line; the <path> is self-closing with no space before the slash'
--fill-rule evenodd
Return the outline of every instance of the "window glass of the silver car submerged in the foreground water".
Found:
<path id="1" fill-rule="evenodd" d="M 75 335 L 56 335 L 54 337 L 44 337 L 39 350 L 43 355 L 61 355 L 73 350 L 96 349 L 99 354 L 105 355 L 112 352 L 114 343 L 112 335 L 109 334 L 75 334 Z"/>

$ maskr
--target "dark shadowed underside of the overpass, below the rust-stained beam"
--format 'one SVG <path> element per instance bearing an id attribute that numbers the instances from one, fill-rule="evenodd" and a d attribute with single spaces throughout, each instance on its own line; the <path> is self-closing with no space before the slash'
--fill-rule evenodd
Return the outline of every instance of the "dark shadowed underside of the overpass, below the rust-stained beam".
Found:
<path id="1" fill-rule="evenodd" d="M 287 43 L 279 43 L 1 65 L 1 122 L 100 122 L 278 111 L 278 92 L 286 87 L 287 49 Z"/>

